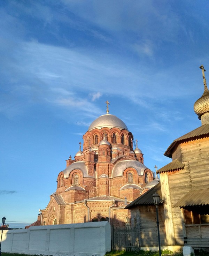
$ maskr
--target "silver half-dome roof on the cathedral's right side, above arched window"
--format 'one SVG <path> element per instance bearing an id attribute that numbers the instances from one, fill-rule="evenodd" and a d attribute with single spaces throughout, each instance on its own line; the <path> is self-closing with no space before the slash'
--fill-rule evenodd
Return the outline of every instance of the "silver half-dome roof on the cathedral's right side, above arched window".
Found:
<path id="1" fill-rule="evenodd" d="M 149 169 L 147 166 L 136 160 L 121 160 L 113 167 L 112 178 L 122 176 L 124 170 L 130 167 L 134 168 L 139 175 L 143 175 L 144 171 Z"/>

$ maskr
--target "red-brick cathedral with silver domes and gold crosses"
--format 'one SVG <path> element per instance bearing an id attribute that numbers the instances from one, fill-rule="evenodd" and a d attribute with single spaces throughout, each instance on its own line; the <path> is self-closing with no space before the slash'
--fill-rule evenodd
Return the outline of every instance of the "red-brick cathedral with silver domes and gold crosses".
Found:
<path id="1" fill-rule="evenodd" d="M 95 119 L 83 135 L 75 160 L 69 157 L 58 174 L 57 188 L 41 225 L 109 221 L 115 227 L 131 225 L 125 206 L 159 182 L 144 165 L 133 135 L 117 116 L 107 113 Z M 136 140 L 137 142 L 137 140 Z"/>

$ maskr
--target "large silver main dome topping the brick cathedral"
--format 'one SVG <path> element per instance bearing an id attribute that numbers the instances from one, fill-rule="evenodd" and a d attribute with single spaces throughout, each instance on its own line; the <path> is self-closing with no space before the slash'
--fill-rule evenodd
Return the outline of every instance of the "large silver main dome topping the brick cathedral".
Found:
<path id="1" fill-rule="evenodd" d="M 121 130 L 122 129 L 128 130 L 125 123 L 121 119 L 117 118 L 117 116 L 106 114 L 106 115 L 101 115 L 97 119 L 95 119 L 91 123 L 90 127 L 88 128 L 88 131 L 91 131 L 95 128 L 102 129 L 103 127 L 108 127 L 110 129 L 113 127 L 116 127 Z"/>

